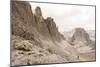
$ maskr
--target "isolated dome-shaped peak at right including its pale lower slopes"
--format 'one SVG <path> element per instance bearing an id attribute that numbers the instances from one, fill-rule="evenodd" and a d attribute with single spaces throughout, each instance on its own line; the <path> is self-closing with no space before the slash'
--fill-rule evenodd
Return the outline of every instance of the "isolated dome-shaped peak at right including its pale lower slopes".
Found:
<path id="1" fill-rule="evenodd" d="M 90 48 L 95 49 L 95 38 L 92 40 L 90 34 L 83 28 L 76 28 L 70 39 L 70 43 L 74 46 L 89 46 Z"/>

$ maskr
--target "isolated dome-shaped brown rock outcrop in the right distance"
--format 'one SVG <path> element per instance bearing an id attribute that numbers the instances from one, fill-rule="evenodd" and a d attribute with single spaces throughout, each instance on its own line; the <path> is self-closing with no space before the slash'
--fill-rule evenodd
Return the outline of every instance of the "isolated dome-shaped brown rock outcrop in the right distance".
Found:
<path id="1" fill-rule="evenodd" d="M 89 44 L 91 40 L 89 34 L 83 28 L 76 28 L 71 38 L 71 41 L 72 42 L 81 41 L 85 42 L 86 44 Z"/>

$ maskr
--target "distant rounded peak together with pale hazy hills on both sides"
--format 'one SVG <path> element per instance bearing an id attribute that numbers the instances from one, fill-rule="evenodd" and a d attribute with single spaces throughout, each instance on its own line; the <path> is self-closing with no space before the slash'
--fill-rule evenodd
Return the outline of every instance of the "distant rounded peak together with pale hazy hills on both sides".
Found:
<path id="1" fill-rule="evenodd" d="M 91 46 L 95 47 L 95 31 L 94 30 L 85 30 L 83 28 L 75 28 L 69 32 L 63 32 L 64 37 L 66 40 L 75 45 L 75 43 L 79 46 Z"/>

